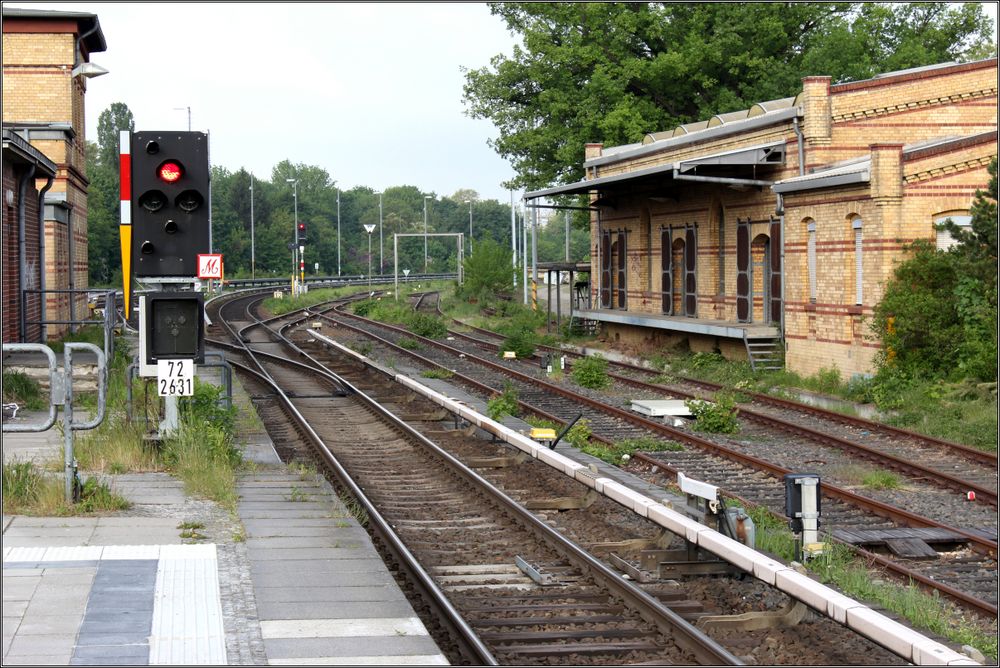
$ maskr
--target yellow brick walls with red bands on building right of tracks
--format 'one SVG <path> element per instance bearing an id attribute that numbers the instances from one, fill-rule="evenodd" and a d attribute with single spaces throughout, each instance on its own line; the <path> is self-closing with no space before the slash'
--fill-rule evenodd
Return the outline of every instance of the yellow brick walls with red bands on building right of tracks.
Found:
<path id="1" fill-rule="evenodd" d="M 835 367 L 844 377 L 872 371 L 879 342 L 868 323 L 885 282 L 904 257 L 904 247 L 915 239 L 934 239 L 935 217 L 942 212 L 968 211 L 976 189 L 986 186 L 986 165 L 997 154 L 996 85 L 995 59 L 856 84 L 831 86 L 828 77 L 803 80 L 799 102 L 804 111 L 801 127 L 806 138 L 806 168 L 859 157 L 870 157 L 872 163 L 869 183 L 788 193 L 785 197 L 784 333 L 790 370 L 812 374 Z M 917 151 L 912 158 L 902 153 L 904 144 L 977 133 L 993 135 L 984 134 L 948 149 Z M 597 176 L 781 140 L 786 142 L 785 164 L 762 168 L 756 175 L 779 180 L 798 174 L 791 121 L 600 165 Z M 591 148 L 588 159 L 598 157 L 599 150 Z M 628 310 L 662 313 L 659 230 L 695 223 L 698 317 L 735 321 L 736 221 L 753 221 L 750 239 L 763 242 L 775 214 L 775 195 L 768 188 L 737 191 L 707 183 L 681 185 L 671 190 L 673 199 L 648 194 L 617 196 L 615 208 L 602 209 L 604 229 L 629 231 Z M 720 212 L 725 220 L 721 240 Z M 806 225 L 810 220 L 816 224 L 815 302 L 809 298 Z M 860 304 L 856 220 L 861 225 Z M 596 216 L 591 221 L 591 235 L 592 269 L 599 272 Z M 679 229 L 674 238 L 682 235 Z M 718 289 L 720 245 L 724 253 L 723 294 Z M 771 251 L 778 249 L 772 247 Z M 595 278 L 595 304 L 599 303 L 597 283 Z M 762 288 L 754 282 L 755 322 L 763 317 Z M 718 347 L 727 355 L 745 355 L 740 341 L 686 337 L 611 323 L 603 323 L 602 331 L 626 345 L 646 346 L 647 352 L 650 346 L 669 347 L 687 339 L 693 350 Z"/>

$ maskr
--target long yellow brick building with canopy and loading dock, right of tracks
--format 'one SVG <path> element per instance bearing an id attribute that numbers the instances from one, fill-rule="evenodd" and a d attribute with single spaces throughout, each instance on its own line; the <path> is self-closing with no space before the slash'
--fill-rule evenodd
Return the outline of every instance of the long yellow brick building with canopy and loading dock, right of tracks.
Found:
<path id="1" fill-rule="evenodd" d="M 525 198 L 590 194 L 594 306 L 575 315 L 619 346 L 850 377 L 872 371 L 868 319 L 904 247 L 946 248 L 935 223 L 968 224 L 996 155 L 993 58 L 806 77 L 794 97 L 589 144 L 585 180 Z"/>

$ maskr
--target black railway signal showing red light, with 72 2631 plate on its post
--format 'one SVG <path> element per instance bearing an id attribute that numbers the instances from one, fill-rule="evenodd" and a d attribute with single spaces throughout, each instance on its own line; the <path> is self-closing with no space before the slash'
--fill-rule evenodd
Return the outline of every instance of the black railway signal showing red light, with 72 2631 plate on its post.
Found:
<path id="1" fill-rule="evenodd" d="M 211 250 L 208 135 L 123 131 L 121 245 L 126 310 L 131 279 L 139 297 L 139 375 L 165 398 L 160 435 L 177 429 L 177 397 L 194 394 L 205 360 L 201 278 L 222 277 Z"/>

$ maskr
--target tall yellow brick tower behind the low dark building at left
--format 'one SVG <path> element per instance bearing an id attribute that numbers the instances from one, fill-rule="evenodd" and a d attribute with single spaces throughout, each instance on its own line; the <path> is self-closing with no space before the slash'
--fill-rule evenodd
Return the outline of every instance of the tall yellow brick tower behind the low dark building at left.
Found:
<path id="1" fill-rule="evenodd" d="M 90 56 L 106 48 L 95 14 L 3 8 L 3 127 L 57 167 L 51 182 L 36 184 L 44 193 L 45 269 L 34 285 L 45 291 L 49 337 L 87 315 L 85 294 L 53 291 L 88 285 L 84 99 L 87 79 L 103 73 Z M 18 260 L 5 255 L 9 261 Z"/>

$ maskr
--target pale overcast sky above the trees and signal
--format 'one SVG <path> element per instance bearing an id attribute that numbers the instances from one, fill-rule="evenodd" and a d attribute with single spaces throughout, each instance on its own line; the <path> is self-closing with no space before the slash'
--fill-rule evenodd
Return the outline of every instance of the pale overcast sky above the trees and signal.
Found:
<path id="1" fill-rule="evenodd" d="M 92 141 L 113 102 L 137 130 L 187 129 L 190 107 L 212 163 L 232 171 L 269 178 L 288 159 L 344 189 L 509 199 L 513 170 L 487 145 L 497 130 L 462 104 L 461 67 L 510 55 L 516 40 L 485 4 L 5 4 L 98 15 L 108 49 L 91 60 L 110 73 L 88 85 Z"/>

